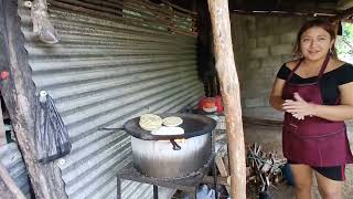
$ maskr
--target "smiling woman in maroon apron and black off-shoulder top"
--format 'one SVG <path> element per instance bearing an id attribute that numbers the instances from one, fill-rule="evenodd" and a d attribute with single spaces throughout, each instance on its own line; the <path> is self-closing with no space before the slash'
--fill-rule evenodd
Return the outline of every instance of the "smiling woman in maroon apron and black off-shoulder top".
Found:
<path id="1" fill-rule="evenodd" d="M 343 122 L 353 118 L 353 66 L 333 56 L 334 40 L 330 23 L 304 23 L 295 48 L 301 57 L 281 66 L 269 100 L 285 112 L 282 149 L 298 199 L 311 198 L 312 174 L 323 199 L 341 198 L 353 163 Z"/>

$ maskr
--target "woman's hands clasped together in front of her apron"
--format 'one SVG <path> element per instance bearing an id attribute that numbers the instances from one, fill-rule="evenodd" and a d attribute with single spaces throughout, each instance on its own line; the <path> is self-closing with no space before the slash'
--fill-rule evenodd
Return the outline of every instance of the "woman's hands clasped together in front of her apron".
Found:
<path id="1" fill-rule="evenodd" d="M 282 104 L 282 108 L 290 113 L 297 119 L 303 119 L 306 116 L 314 115 L 314 104 L 306 102 L 299 93 L 293 94 L 295 100 L 286 100 Z"/>

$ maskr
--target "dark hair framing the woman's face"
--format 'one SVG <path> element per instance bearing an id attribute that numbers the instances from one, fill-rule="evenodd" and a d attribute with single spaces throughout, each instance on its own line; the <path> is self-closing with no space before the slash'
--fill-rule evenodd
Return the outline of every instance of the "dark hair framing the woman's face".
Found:
<path id="1" fill-rule="evenodd" d="M 300 39 L 302 33 L 304 33 L 308 29 L 313 28 L 313 27 L 319 27 L 325 30 L 330 36 L 331 40 L 335 40 L 335 25 L 332 24 L 331 22 L 323 20 L 323 19 L 314 19 L 311 21 L 307 21 L 302 27 L 300 28 L 298 34 L 297 34 L 297 41 L 295 44 L 293 53 L 295 56 L 301 56 L 301 50 L 300 50 Z M 334 46 L 331 46 L 331 54 L 335 56 L 335 50 Z"/>

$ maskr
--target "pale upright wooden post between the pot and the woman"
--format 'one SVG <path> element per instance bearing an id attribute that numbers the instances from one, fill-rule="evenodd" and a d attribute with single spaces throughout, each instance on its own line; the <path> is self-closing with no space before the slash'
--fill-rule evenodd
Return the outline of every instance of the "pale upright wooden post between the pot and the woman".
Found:
<path id="1" fill-rule="evenodd" d="M 239 81 L 232 45 L 227 0 L 208 0 L 216 70 L 225 105 L 227 138 L 231 160 L 231 196 L 246 198 L 246 165 L 242 122 Z"/>

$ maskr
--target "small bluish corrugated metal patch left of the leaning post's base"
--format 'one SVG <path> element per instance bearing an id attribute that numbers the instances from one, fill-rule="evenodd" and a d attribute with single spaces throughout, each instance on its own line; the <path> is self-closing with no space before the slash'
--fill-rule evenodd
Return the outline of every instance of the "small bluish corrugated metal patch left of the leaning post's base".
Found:
<path id="1" fill-rule="evenodd" d="M 22 155 L 14 143 L 0 147 L 0 161 L 26 198 L 31 198 L 29 175 Z M 1 198 L 1 195 L 0 195 Z"/>

